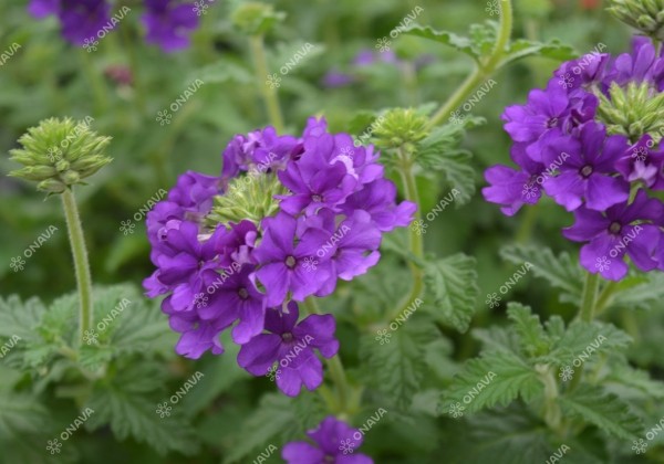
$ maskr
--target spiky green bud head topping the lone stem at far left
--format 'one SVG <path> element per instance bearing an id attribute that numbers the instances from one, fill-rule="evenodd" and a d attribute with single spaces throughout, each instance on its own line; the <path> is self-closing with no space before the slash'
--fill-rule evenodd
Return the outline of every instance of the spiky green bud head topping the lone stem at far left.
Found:
<path id="1" fill-rule="evenodd" d="M 11 150 L 11 159 L 24 167 L 10 176 L 38 181 L 38 190 L 61 193 L 112 161 L 103 154 L 110 141 L 111 137 L 90 130 L 87 119 L 42 120 L 19 139 L 22 148 Z"/>

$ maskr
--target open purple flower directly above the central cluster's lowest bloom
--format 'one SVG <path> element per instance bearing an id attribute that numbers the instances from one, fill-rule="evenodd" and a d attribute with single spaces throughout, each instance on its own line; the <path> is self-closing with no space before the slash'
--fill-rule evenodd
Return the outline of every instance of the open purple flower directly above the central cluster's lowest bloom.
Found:
<path id="1" fill-rule="evenodd" d="M 253 257 L 261 265 L 256 276 L 266 287 L 268 306 L 283 303 L 289 292 L 298 302 L 317 293 L 330 276 L 329 263 L 319 262 L 315 254 L 325 243 L 325 232 L 310 228 L 295 235 L 295 219 L 283 212 L 263 219 L 261 228 L 266 234 Z"/>

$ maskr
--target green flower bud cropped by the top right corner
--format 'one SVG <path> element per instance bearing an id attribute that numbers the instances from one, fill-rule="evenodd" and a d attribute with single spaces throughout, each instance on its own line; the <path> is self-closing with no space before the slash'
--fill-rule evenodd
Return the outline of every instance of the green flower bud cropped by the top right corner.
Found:
<path id="1" fill-rule="evenodd" d="M 632 28 L 664 40 L 664 0 L 611 0 L 608 10 Z"/>

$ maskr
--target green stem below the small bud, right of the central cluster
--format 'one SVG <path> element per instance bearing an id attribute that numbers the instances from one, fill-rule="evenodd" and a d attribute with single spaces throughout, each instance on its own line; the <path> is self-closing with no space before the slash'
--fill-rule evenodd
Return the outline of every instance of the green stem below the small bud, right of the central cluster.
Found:
<path id="1" fill-rule="evenodd" d="M 407 154 L 405 154 L 403 148 L 398 149 L 398 155 L 402 161 L 398 171 L 402 178 L 402 182 L 404 184 L 405 199 L 417 204 L 417 210 L 415 211 L 415 221 L 422 221 L 419 194 L 417 193 L 417 182 L 415 181 L 415 175 L 413 173 L 413 160 Z M 424 242 L 422 240 L 422 234 L 416 233 L 415 230 L 413 230 L 413 228 L 408 228 L 408 242 L 411 253 L 413 253 L 413 255 L 416 259 L 422 260 L 424 257 Z M 415 299 L 419 297 L 422 291 L 424 289 L 422 270 L 414 262 L 409 262 L 408 265 L 413 274 L 413 287 L 411 288 L 411 294 L 403 298 L 402 302 L 397 305 L 397 310 L 394 314 L 390 315 L 390 320 L 394 319 L 404 309 L 411 306 L 415 302 Z"/>

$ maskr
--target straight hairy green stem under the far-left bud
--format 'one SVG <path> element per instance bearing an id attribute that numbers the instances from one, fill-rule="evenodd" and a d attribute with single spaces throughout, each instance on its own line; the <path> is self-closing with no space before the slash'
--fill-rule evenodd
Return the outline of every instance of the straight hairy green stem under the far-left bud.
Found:
<path id="1" fill-rule="evenodd" d="M 83 344 L 83 336 L 93 325 L 92 315 L 92 278 L 90 276 L 90 265 L 87 263 L 87 250 L 85 249 L 85 238 L 76 199 L 70 189 L 62 193 L 62 205 L 66 218 L 66 228 L 69 230 L 70 245 L 74 257 L 74 270 L 76 273 L 76 285 L 79 287 L 79 340 Z"/>

